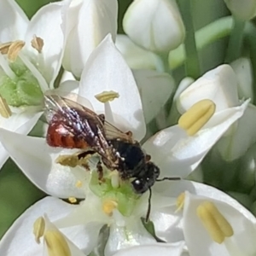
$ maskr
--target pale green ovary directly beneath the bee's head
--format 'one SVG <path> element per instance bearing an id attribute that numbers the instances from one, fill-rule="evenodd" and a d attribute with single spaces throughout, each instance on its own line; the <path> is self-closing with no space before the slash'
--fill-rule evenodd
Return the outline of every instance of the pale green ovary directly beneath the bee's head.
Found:
<path id="1" fill-rule="evenodd" d="M 104 176 L 104 182 L 99 183 L 97 172 L 92 172 L 90 180 L 91 191 L 103 201 L 112 200 L 118 203 L 117 209 L 125 217 L 131 216 L 140 195 L 133 192 L 129 181 L 121 183 L 119 188 L 113 188 L 108 175 Z"/>

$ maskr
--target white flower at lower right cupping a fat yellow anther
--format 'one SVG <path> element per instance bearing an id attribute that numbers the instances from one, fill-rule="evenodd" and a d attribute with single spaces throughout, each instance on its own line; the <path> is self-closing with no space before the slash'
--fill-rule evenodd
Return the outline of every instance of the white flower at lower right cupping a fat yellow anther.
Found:
<path id="1" fill-rule="evenodd" d="M 184 240 L 190 256 L 256 253 L 256 218 L 229 195 L 188 181 L 157 183 L 154 189 L 166 196 L 180 195 L 177 202 L 183 206 L 152 214 L 156 236 L 168 242 Z"/>

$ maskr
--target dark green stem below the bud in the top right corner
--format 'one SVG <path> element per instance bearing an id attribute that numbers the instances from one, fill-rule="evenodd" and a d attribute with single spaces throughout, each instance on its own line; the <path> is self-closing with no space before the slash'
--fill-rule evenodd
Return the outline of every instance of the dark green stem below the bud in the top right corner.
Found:
<path id="1" fill-rule="evenodd" d="M 234 18 L 234 26 L 230 33 L 230 41 L 227 49 L 225 62 L 235 61 L 241 55 L 243 32 L 246 22 Z"/>

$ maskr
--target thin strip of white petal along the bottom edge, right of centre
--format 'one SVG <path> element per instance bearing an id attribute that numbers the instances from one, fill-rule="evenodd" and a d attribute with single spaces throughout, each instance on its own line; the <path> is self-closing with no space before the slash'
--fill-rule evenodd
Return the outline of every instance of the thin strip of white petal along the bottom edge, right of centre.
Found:
<path id="1" fill-rule="evenodd" d="M 133 256 L 133 255 L 163 255 L 163 256 L 181 256 L 183 255 L 183 242 L 169 244 L 142 245 L 120 250 L 113 256 Z"/>

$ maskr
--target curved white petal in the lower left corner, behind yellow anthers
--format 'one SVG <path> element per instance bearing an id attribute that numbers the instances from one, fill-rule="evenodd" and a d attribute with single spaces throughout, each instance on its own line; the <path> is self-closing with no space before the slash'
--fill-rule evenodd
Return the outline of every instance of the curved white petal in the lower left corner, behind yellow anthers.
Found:
<path id="1" fill-rule="evenodd" d="M 61 218 L 70 212 L 73 205 L 54 197 L 46 197 L 30 207 L 11 226 L 0 241 L 0 254 L 5 256 L 20 256 L 20 252 L 26 256 L 42 255 L 43 244 L 37 244 L 32 234 L 35 220 L 47 212 L 51 220 Z M 75 239 L 75 236 L 73 236 Z"/>

